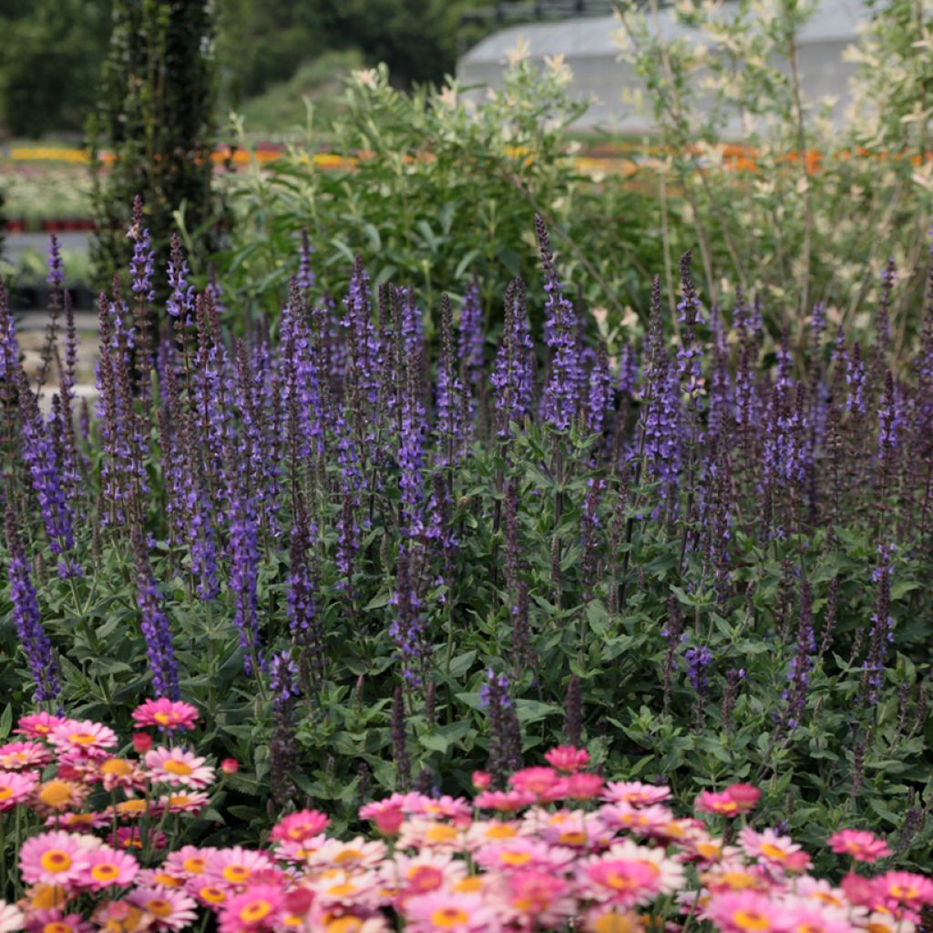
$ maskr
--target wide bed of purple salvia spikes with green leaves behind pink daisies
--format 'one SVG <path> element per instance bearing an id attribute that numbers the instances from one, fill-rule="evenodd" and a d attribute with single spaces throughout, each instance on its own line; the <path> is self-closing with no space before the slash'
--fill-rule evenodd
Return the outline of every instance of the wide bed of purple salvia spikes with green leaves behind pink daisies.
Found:
<path id="1" fill-rule="evenodd" d="M 0 296 L 0 732 L 196 703 L 241 762 L 225 844 L 291 801 L 506 792 L 569 743 L 681 802 L 754 785 L 818 866 L 841 829 L 926 863 L 933 277 L 909 353 L 893 264 L 870 340 L 816 305 L 800 345 L 688 253 L 673 332 L 655 279 L 618 350 L 537 218 L 494 333 L 480 283 L 427 309 L 357 257 L 327 294 L 307 237 L 281 313 L 231 328 L 177 242 L 156 307 L 142 216 L 90 411 L 55 244 L 37 380 Z"/>

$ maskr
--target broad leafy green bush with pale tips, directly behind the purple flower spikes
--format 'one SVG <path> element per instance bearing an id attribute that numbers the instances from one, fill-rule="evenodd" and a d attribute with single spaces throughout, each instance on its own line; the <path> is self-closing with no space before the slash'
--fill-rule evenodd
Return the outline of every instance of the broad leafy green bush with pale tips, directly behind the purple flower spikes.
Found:
<path id="1" fill-rule="evenodd" d="M 332 124 L 312 119 L 303 146 L 231 179 L 225 285 L 276 312 L 304 228 L 332 294 L 358 252 L 378 255 L 377 283 L 411 284 L 428 308 L 477 272 L 492 306 L 532 272 L 539 213 L 585 299 L 619 322 L 627 302 L 641 304 L 660 236 L 643 195 L 578 173 L 569 127 L 584 104 L 569 98 L 568 79 L 562 67 L 518 62 L 502 91 L 477 102 L 455 81 L 409 94 L 384 68 L 356 73 Z"/>

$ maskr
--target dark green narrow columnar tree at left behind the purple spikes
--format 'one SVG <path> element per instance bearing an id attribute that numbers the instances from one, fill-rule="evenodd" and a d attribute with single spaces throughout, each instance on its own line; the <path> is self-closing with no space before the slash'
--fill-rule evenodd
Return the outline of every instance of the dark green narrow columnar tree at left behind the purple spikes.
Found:
<path id="1" fill-rule="evenodd" d="M 189 246 L 195 269 L 215 246 L 212 188 L 215 141 L 215 15 L 211 0 L 115 0 L 101 101 L 90 121 L 94 155 L 93 255 L 106 283 L 125 266 L 132 199 L 139 194 L 151 230 L 196 230 Z M 113 153 L 107 174 L 100 152 Z M 164 269 L 165 241 L 157 242 Z"/>

